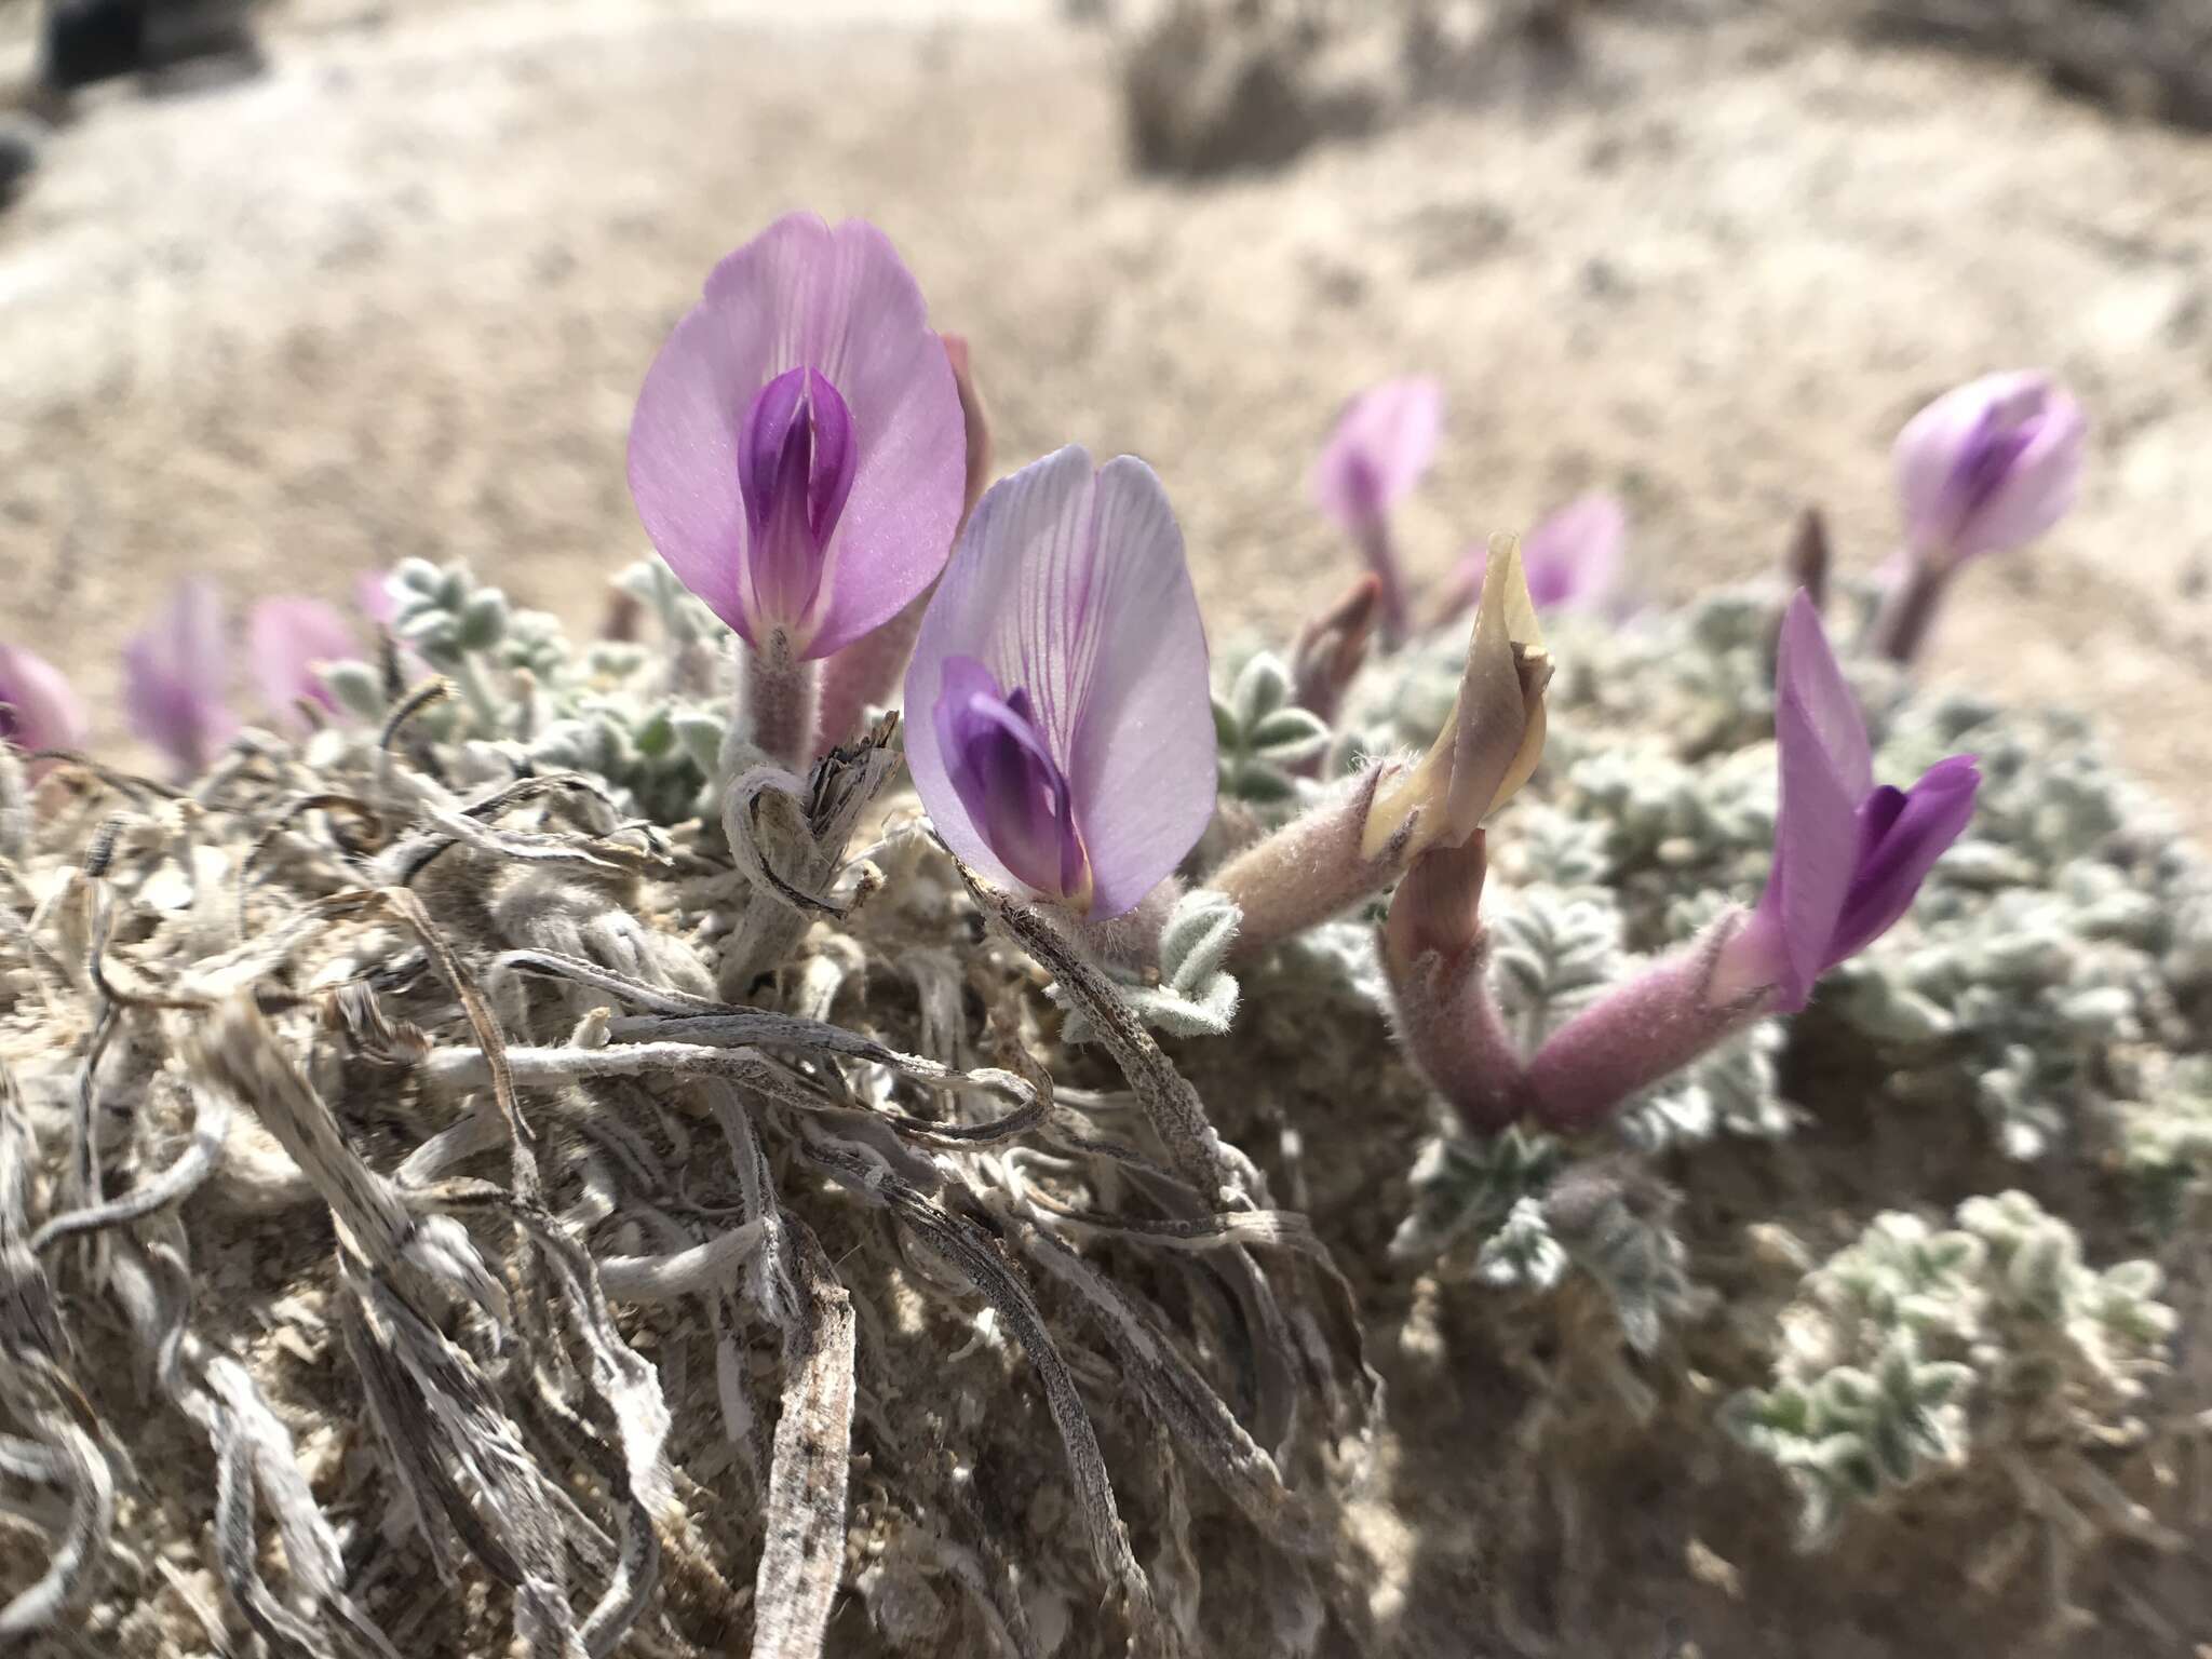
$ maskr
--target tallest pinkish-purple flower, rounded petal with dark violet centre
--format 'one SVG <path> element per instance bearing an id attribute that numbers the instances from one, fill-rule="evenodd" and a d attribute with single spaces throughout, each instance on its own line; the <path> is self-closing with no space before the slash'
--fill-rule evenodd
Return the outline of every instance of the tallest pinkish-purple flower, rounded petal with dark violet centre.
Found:
<path id="1" fill-rule="evenodd" d="M 960 394 L 889 239 L 787 215 L 723 259 L 637 394 L 630 495 L 748 644 L 827 657 L 951 551 Z"/>

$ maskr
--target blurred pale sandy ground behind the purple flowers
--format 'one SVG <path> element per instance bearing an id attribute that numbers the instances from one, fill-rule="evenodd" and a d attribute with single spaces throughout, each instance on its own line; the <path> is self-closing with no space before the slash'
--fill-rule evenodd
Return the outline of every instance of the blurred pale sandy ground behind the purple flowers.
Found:
<path id="1" fill-rule="evenodd" d="M 1352 568 L 1305 473 L 1340 398 L 1442 376 L 1405 520 L 1440 571 L 1619 491 L 1659 595 L 1772 566 L 1809 500 L 1889 549 L 1887 451 L 2046 365 L 2079 511 L 1989 562 L 1933 670 L 2106 712 L 2212 830 L 2212 137 L 1790 9 L 1606 11 L 1575 62 L 1287 166 L 1133 173 L 1117 46 L 1046 0 L 294 0 L 268 71 L 80 100 L 0 212 L 0 637 L 119 743 L 115 653 L 184 568 L 334 599 L 469 557 L 588 622 L 644 551 L 637 383 L 772 215 L 880 221 L 1018 465 L 1130 449 L 1217 637 Z M 31 9 L 0 0 L 0 84 Z"/>

